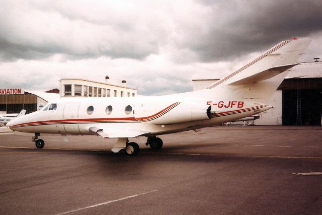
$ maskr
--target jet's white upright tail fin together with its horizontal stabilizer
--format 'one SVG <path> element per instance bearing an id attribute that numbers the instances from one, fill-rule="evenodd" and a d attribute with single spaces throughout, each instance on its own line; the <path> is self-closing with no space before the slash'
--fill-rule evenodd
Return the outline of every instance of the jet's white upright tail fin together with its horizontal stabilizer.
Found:
<path id="1" fill-rule="evenodd" d="M 311 40 L 283 41 L 234 73 L 208 86 L 216 93 L 267 103 Z M 219 92 L 218 92 L 219 91 Z"/>

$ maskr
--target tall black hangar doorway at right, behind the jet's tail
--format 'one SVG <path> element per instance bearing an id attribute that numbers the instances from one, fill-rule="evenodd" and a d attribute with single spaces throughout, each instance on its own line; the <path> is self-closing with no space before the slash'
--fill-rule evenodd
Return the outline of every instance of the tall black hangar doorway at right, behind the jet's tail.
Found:
<path id="1" fill-rule="evenodd" d="M 321 125 L 321 89 L 283 90 L 283 125 Z"/>

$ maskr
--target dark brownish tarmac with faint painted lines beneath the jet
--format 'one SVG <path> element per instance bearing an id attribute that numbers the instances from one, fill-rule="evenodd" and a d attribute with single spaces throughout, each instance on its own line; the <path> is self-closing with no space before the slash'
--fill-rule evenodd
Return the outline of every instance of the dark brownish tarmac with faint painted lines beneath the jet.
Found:
<path id="1" fill-rule="evenodd" d="M 216 126 L 116 139 L 0 128 L 0 214 L 322 214 L 322 127 Z"/>

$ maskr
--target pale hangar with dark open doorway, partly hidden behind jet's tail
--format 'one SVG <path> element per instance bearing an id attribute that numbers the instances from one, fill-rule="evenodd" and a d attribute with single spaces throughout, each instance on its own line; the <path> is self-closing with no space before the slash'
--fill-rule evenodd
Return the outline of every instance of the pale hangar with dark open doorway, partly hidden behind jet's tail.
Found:
<path id="1" fill-rule="evenodd" d="M 194 90 L 219 79 L 192 80 Z M 269 102 L 274 108 L 262 112 L 257 125 L 321 125 L 322 62 L 294 66 Z"/>

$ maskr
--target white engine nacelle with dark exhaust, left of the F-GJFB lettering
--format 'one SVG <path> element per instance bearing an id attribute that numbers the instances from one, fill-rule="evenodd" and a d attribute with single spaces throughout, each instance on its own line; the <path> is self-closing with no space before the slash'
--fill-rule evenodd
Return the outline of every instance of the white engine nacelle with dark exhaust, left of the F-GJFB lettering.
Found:
<path id="1" fill-rule="evenodd" d="M 159 110 L 155 109 L 153 105 L 153 109 L 157 112 Z M 146 107 L 146 106 L 145 106 Z M 169 125 L 169 124 L 177 124 L 177 123 L 185 123 L 185 122 L 193 122 L 193 121 L 201 121 L 201 120 L 209 120 L 211 106 L 192 103 L 192 102 L 182 102 L 176 105 L 174 108 L 171 108 L 167 111 L 161 112 L 160 114 L 153 117 L 153 119 L 149 120 L 151 124 L 155 125 Z M 139 118 L 139 112 L 143 113 L 146 111 L 141 110 L 138 111 L 138 114 L 135 114 L 135 118 Z M 160 112 L 160 111 L 159 111 Z"/>

